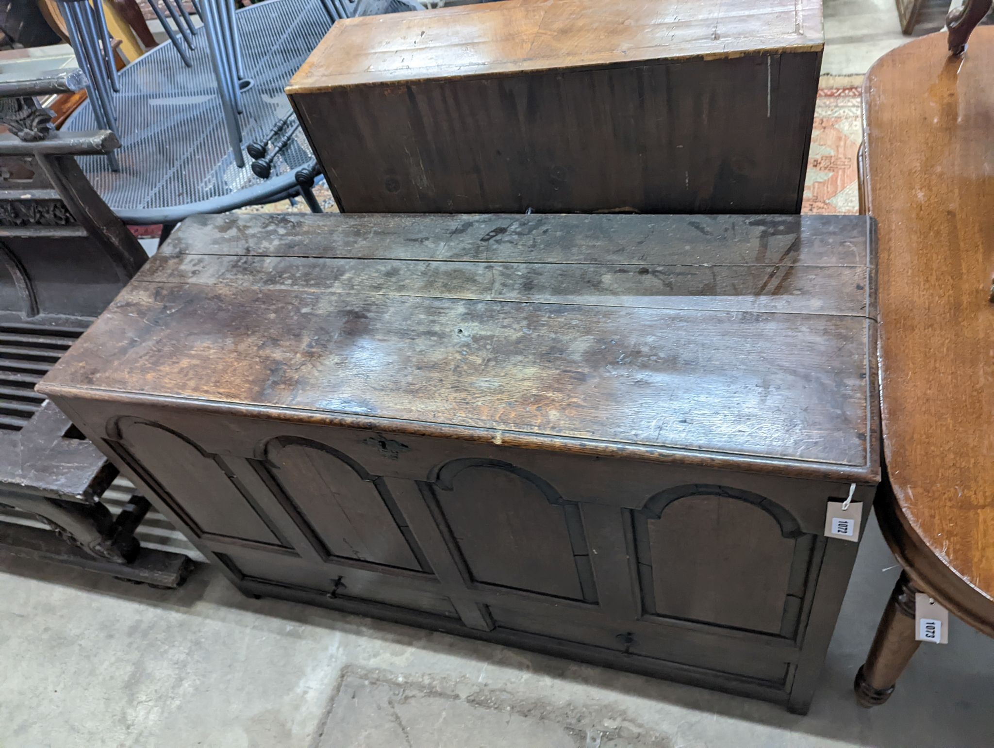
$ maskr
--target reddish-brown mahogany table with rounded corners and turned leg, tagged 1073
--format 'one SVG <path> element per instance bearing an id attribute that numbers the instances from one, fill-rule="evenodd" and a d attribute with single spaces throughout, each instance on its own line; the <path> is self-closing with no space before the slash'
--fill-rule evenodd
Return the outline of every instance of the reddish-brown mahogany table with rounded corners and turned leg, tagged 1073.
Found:
<path id="1" fill-rule="evenodd" d="M 863 87 L 861 198 L 880 239 L 887 481 L 904 572 L 856 677 L 883 703 L 917 648 L 914 592 L 994 636 L 994 28 L 881 58 Z"/>

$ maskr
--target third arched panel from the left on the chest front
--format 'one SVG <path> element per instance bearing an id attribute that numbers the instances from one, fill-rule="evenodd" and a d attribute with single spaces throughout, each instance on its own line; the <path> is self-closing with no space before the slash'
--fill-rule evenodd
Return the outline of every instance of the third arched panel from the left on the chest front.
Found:
<path id="1" fill-rule="evenodd" d="M 596 600 L 580 510 L 541 478 L 498 460 L 465 459 L 448 463 L 433 488 L 473 580 Z"/>

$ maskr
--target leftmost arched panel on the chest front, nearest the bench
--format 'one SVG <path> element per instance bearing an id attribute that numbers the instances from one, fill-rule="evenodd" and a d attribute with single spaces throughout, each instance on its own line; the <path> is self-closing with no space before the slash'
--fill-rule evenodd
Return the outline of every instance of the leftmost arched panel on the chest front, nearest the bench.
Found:
<path id="1" fill-rule="evenodd" d="M 116 430 L 120 443 L 111 446 L 198 534 L 287 545 L 222 458 L 148 421 L 121 419 Z"/>

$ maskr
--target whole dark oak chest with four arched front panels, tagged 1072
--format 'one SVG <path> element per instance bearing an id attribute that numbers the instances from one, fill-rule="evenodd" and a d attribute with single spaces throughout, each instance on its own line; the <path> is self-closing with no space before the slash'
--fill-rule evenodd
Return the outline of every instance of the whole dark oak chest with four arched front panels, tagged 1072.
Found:
<path id="1" fill-rule="evenodd" d="M 804 711 L 874 263 L 856 216 L 197 217 L 39 389 L 248 594 Z"/>

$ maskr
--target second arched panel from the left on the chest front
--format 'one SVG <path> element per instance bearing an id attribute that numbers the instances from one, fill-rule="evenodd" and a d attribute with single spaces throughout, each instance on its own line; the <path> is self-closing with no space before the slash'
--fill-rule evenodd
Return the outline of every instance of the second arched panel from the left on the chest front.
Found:
<path id="1" fill-rule="evenodd" d="M 386 485 L 348 455 L 316 441 L 266 445 L 272 480 L 326 555 L 426 569 Z"/>

